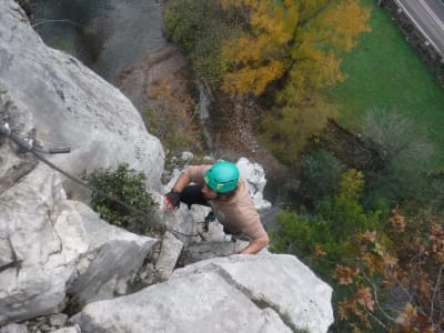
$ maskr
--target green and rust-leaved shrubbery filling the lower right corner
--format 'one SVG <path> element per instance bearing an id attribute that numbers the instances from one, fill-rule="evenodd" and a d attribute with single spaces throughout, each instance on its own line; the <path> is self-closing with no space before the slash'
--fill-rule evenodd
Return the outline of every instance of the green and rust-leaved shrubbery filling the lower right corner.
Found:
<path id="1" fill-rule="evenodd" d="M 365 210 L 363 185 L 349 170 L 313 215 L 279 214 L 272 249 L 300 256 L 332 285 L 332 332 L 443 332 L 444 216 Z"/>

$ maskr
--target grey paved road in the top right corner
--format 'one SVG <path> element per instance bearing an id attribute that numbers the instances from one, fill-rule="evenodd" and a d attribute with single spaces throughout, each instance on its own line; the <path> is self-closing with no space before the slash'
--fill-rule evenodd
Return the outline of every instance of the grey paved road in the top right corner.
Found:
<path id="1" fill-rule="evenodd" d="M 444 57 L 444 3 L 441 0 L 395 0 Z"/>

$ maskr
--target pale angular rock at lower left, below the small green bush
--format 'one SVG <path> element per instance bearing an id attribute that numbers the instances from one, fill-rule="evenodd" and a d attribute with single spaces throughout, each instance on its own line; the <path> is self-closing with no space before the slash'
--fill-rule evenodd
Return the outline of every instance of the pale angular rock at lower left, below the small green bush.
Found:
<path id="1" fill-rule="evenodd" d="M 100 220 L 67 200 L 61 180 L 40 164 L 0 195 L 0 325 L 112 297 L 142 265 L 157 240 Z"/>

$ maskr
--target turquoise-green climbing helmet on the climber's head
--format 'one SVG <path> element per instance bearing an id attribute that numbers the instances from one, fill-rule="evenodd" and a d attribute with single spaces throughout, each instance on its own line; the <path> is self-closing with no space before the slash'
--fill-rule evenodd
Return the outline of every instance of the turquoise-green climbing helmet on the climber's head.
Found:
<path id="1" fill-rule="evenodd" d="M 204 180 L 211 190 L 228 193 L 238 186 L 239 169 L 231 162 L 218 162 L 205 172 Z"/>

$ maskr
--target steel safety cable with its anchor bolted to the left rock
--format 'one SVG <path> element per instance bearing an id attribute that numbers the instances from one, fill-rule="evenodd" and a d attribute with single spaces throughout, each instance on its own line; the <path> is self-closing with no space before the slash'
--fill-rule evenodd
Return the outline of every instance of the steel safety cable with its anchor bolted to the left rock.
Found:
<path id="1" fill-rule="evenodd" d="M 105 192 L 99 190 L 98 188 L 95 188 L 95 186 L 93 186 L 93 185 L 91 185 L 91 184 L 78 179 L 77 176 L 68 173 L 67 171 L 60 169 L 59 167 L 57 167 L 56 164 L 50 162 L 48 159 L 46 159 L 44 157 L 41 155 L 42 153 L 47 153 L 47 154 L 69 153 L 69 152 L 71 152 L 70 148 L 52 148 L 52 149 L 47 149 L 47 150 L 42 149 L 42 148 L 39 148 L 39 147 L 36 145 L 34 140 L 32 140 L 32 139 L 22 139 L 19 135 L 17 135 L 10 129 L 8 123 L 3 123 L 2 125 L 0 125 L 0 135 L 1 137 L 6 137 L 6 138 L 10 139 L 11 141 L 13 141 L 21 149 L 22 152 L 32 153 L 37 159 L 39 159 L 40 161 L 42 161 L 43 163 L 49 165 L 51 169 L 60 172 L 64 176 L 69 178 L 70 180 L 72 180 L 74 182 L 77 182 L 78 184 L 87 188 L 88 190 L 90 190 L 92 192 L 95 192 L 95 193 L 107 198 L 108 200 L 114 201 L 114 202 L 123 205 L 125 209 L 128 209 L 128 210 L 130 210 L 130 211 L 132 211 L 134 213 L 144 215 L 149 220 L 152 219 L 152 214 L 151 213 L 149 213 L 147 211 L 143 211 L 143 210 L 140 210 L 140 209 L 138 209 L 138 208 L 135 208 L 135 206 L 133 206 L 131 204 L 128 204 L 124 201 L 121 201 L 121 200 L 119 200 L 119 199 L 117 199 L 114 196 L 111 196 L 111 195 L 107 194 Z M 186 233 L 180 232 L 178 230 L 163 228 L 163 225 L 158 225 L 158 226 L 161 226 L 164 231 L 170 231 L 170 232 L 183 235 L 183 236 L 190 236 L 190 238 L 191 236 L 201 236 L 202 239 L 204 239 L 203 235 L 199 231 L 195 234 L 186 234 Z"/>

